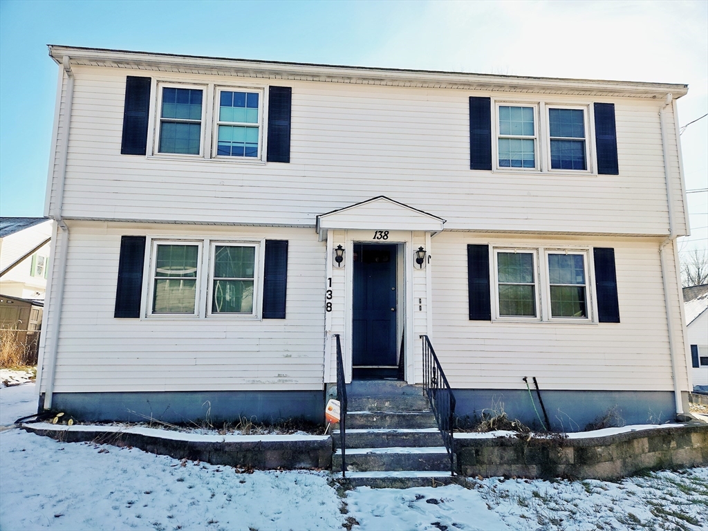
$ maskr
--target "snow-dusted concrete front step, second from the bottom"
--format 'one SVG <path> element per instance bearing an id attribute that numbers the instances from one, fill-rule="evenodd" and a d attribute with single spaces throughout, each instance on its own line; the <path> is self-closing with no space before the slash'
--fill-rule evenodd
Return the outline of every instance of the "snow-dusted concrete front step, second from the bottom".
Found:
<path id="1" fill-rule="evenodd" d="M 332 470 L 342 467 L 342 450 L 332 456 Z M 444 446 L 424 448 L 348 448 L 346 469 L 351 472 L 396 472 L 401 470 L 440 471 L 450 468 Z"/>

